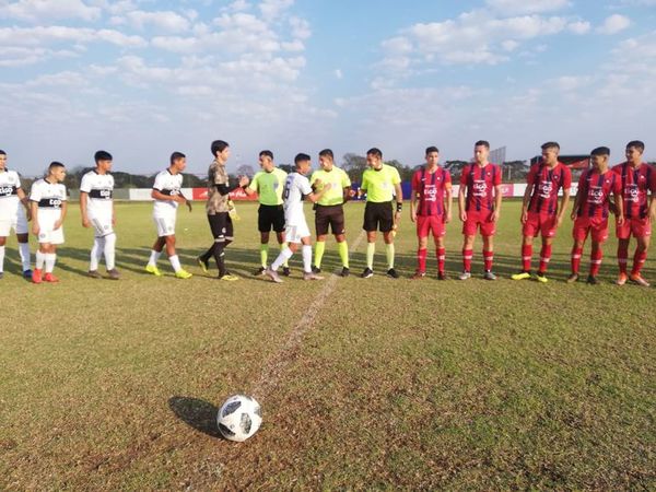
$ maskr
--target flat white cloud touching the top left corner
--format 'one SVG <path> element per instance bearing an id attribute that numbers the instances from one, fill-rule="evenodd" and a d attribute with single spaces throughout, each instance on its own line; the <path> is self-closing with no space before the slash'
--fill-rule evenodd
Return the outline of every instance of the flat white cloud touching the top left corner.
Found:
<path id="1" fill-rule="evenodd" d="M 16 19 L 21 21 L 51 22 L 60 19 L 80 19 L 96 21 L 102 10 L 90 7 L 81 0 L 19 0 L 0 3 L 0 19 Z"/>

